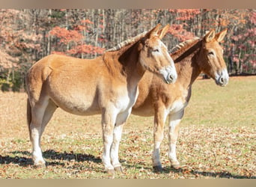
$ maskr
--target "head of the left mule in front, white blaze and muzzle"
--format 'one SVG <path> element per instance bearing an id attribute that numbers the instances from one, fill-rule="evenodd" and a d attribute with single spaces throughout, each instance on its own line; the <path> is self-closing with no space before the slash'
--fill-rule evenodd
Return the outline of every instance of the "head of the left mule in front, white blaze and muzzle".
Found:
<path id="1" fill-rule="evenodd" d="M 169 25 L 161 30 L 159 27 L 160 25 L 156 25 L 142 38 L 139 62 L 145 70 L 162 76 L 166 83 L 174 83 L 177 79 L 174 61 L 168 54 L 167 47 L 161 41 L 168 31 Z"/>

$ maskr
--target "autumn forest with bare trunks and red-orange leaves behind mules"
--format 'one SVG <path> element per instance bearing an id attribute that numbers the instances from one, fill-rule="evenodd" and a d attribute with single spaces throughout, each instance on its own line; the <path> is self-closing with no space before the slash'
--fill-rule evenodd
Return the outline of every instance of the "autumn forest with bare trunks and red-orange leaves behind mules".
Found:
<path id="1" fill-rule="evenodd" d="M 255 9 L 0 9 L 0 88 L 24 91 L 28 68 L 46 55 L 95 58 L 157 23 L 171 25 L 168 49 L 228 28 L 228 73 L 256 74 Z"/>

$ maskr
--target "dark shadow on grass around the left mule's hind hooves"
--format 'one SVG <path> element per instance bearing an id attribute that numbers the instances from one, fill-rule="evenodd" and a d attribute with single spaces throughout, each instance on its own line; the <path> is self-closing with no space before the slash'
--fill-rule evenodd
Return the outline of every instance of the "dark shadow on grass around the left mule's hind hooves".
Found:
<path id="1" fill-rule="evenodd" d="M 29 165 L 33 165 L 33 161 L 31 158 L 27 158 L 26 156 L 31 156 L 31 153 L 28 151 L 13 151 L 10 152 L 14 155 L 24 155 L 24 156 L 1 156 L 0 155 L 0 164 L 16 164 L 20 165 L 23 167 L 28 167 Z M 54 160 L 53 162 L 46 162 L 46 165 L 64 165 L 64 163 L 58 162 L 56 160 L 75 160 L 76 162 L 95 162 L 95 163 L 100 163 L 102 160 L 99 157 L 95 157 L 91 154 L 81 154 L 81 153 L 73 153 L 72 151 L 70 153 L 64 152 L 64 153 L 59 153 L 56 152 L 55 150 L 46 150 L 43 152 L 43 158 L 45 159 L 52 159 Z"/>

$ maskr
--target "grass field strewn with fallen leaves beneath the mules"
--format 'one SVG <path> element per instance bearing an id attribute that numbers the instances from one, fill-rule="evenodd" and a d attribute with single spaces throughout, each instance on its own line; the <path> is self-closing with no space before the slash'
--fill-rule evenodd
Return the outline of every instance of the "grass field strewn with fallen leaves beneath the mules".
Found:
<path id="1" fill-rule="evenodd" d="M 183 168 L 170 167 L 165 128 L 161 174 L 152 170 L 153 117 L 132 115 L 120 147 L 124 173 L 115 179 L 256 178 L 255 93 L 255 76 L 231 77 L 225 88 L 198 79 L 177 143 Z M 0 178 L 113 178 L 103 172 L 100 115 L 81 117 L 58 109 L 42 138 L 47 167 L 34 168 L 25 93 L 0 92 L 0 110 Z"/>

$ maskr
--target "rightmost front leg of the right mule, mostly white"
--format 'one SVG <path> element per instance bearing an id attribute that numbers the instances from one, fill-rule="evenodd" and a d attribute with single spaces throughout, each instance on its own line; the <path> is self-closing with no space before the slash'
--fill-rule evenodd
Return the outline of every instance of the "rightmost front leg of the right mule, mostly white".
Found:
<path id="1" fill-rule="evenodd" d="M 168 129 L 168 141 L 169 141 L 169 152 L 168 158 L 170 159 L 171 166 L 173 168 L 179 168 L 180 162 L 176 156 L 176 144 L 177 137 L 179 134 L 179 124 L 184 114 L 184 110 L 169 115 L 169 129 Z"/>

